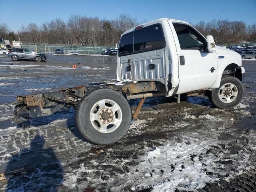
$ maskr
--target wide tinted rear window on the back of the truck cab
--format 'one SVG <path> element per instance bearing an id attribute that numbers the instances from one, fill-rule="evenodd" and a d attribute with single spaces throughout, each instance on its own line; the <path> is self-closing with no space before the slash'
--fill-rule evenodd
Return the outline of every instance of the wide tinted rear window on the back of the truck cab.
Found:
<path id="1" fill-rule="evenodd" d="M 123 35 L 118 56 L 158 50 L 164 48 L 165 45 L 162 26 L 154 24 Z"/>

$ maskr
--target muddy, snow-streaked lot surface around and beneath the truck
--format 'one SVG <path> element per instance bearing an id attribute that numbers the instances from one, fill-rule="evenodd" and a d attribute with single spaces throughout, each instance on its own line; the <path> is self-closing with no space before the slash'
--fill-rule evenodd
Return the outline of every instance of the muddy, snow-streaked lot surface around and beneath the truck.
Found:
<path id="1" fill-rule="evenodd" d="M 0 173 L 9 173 L 0 191 L 255 191 L 256 60 L 243 66 L 245 94 L 236 108 L 213 108 L 204 96 L 180 104 L 148 98 L 124 138 L 97 146 L 76 131 L 74 109 L 23 129 L 10 123 L 11 103 L 114 81 L 115 57 L 49 55 L 37 63 L 0 56 Z M 130 101 L 133 110 L 137 103 Z"/>

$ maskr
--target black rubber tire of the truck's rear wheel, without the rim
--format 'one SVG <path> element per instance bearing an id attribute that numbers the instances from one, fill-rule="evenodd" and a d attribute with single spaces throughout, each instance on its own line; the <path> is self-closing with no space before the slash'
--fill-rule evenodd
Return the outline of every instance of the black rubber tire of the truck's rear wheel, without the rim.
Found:
<path id="1" fill-rule="evenodd" d="M 113 100 L 120 106 L 122 111 L 122 122 L 119 127 L 110 133 L 102 133 L 96 130 L 90 120 L 90 111 L 94 104 L 102 99 Z M 131 107 L 126 98 L 111 89 L 99 89 L 91 92 L 88 96 L 82 98 L 76 107 L 76 127 L 79 132 L 94 144 L 111 144 L 117 142 L 128 131 L 132 120 Z"/>

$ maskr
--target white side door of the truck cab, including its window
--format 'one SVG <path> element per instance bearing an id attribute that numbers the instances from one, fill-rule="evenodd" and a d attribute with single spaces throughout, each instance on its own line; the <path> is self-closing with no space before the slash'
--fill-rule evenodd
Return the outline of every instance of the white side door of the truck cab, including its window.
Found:
<path id="1" fill-rule="evenodd" d="M 212 87 L 217 78 L 217 54 L 209 53 L 206 39 L 188 24 L 173 23 L 179 58 L 177 94 Z"/>

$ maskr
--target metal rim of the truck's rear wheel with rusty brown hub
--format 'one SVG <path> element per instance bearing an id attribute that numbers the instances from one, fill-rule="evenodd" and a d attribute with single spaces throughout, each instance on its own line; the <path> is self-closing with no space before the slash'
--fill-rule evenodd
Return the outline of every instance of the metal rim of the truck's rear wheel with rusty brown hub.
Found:
<path id="1" fill-rule="evenodd" d="M 90 110 L 90 122 L 98 132 L 113 132 L 122 122 L 122 110 L 113 100 L 100 100 Z"/>

